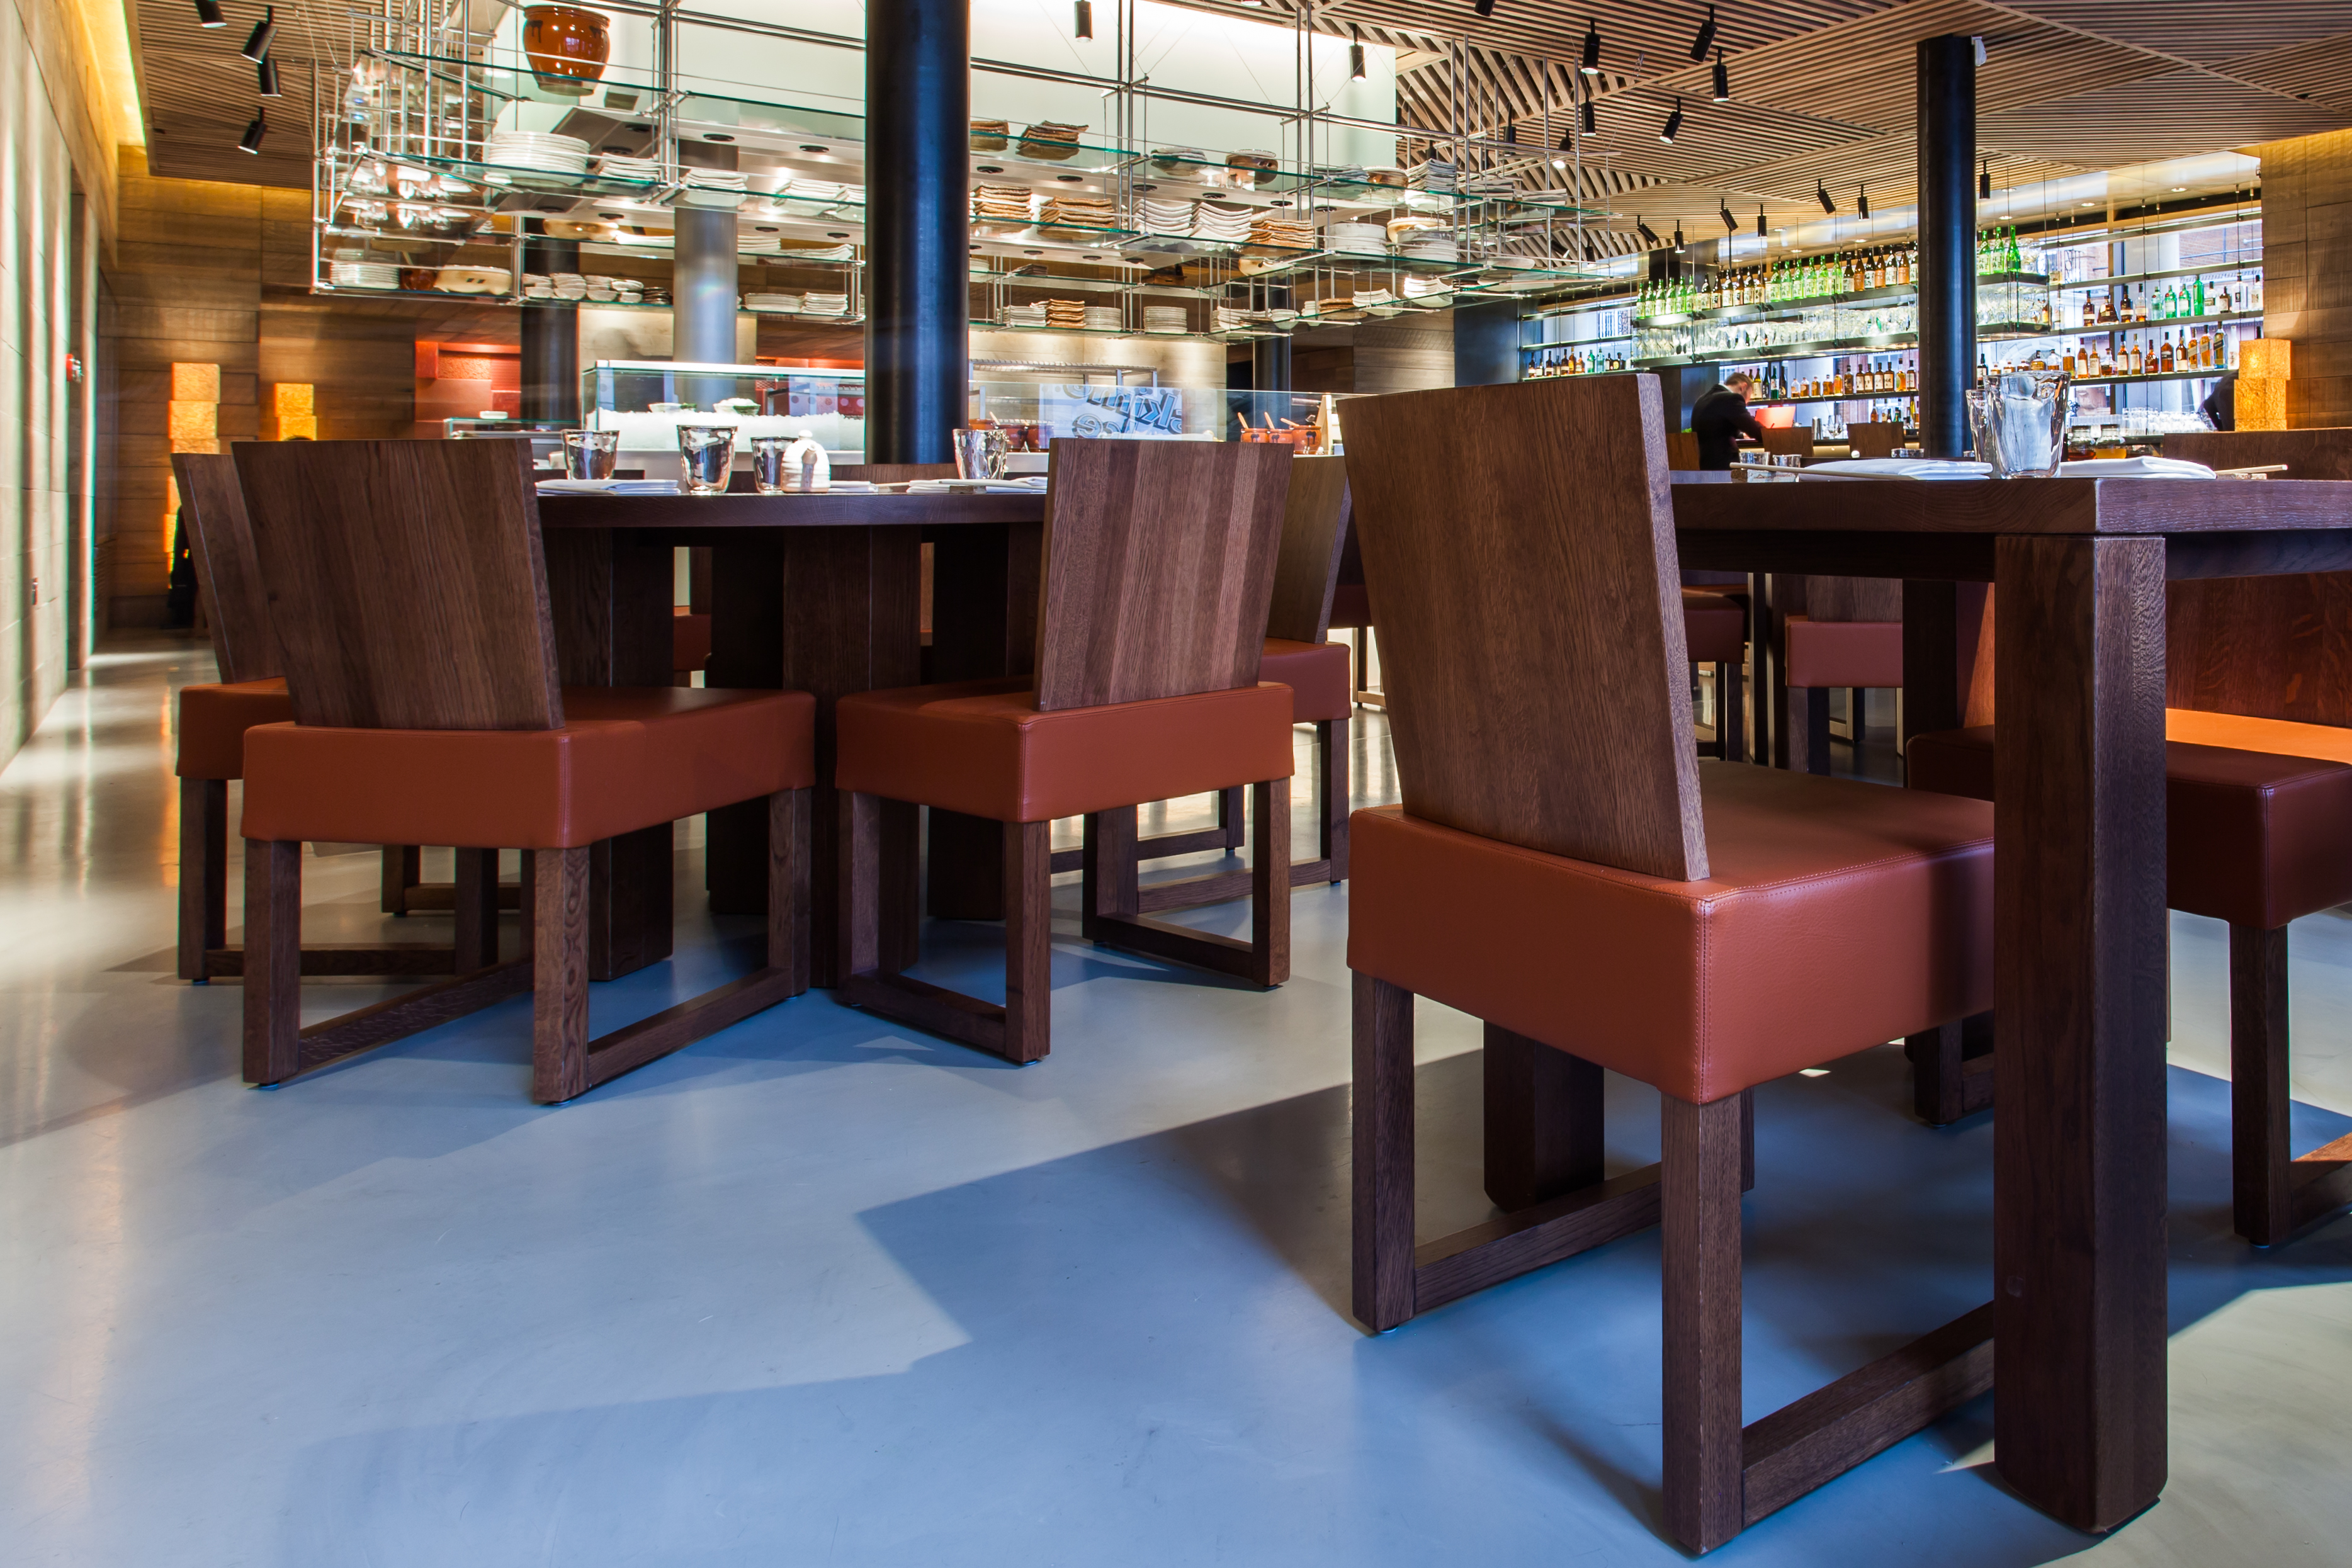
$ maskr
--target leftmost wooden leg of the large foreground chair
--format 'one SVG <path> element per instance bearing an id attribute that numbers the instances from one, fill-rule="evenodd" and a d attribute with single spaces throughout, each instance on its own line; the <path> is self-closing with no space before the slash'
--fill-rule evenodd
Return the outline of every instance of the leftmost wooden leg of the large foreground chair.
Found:
<path id="1" fill-rule="evenodd" d="M 1355 1319 L 1414 1316 L 1414 992 L 1355 976 Z"/>

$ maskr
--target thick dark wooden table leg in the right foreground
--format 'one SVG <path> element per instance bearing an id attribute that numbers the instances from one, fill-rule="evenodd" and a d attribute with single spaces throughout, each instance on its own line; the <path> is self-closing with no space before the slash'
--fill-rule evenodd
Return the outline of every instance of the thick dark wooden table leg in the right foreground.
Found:
<path id="1" fill-rule="evenodd" d="M 2164 541 L 2009 536 L 1994 571 L 1994 1450 L 2110 1530 L 2166 1467 Z"/>

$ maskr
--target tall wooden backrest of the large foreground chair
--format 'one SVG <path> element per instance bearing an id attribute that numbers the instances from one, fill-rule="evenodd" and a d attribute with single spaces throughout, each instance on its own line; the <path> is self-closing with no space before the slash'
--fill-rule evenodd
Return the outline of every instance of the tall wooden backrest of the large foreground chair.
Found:
<path id="1" fill-rule="evenodd" d="M 1708 875 L 1656 376 L 1359 397 L 1348 480 L 1404 809 Z"/>

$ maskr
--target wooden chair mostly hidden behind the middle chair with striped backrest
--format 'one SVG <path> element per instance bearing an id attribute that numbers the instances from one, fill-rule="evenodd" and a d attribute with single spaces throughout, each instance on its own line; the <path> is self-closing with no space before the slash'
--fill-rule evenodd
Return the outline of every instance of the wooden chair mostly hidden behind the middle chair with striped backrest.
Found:
<path id="1" fill-rule="evenodd" d="M 1265 651 L 1258 679 L 1291 689 L 1291 724 L 1315 726 L 1315 788 L 1322 795 L 1317 858 L 1291 863 L 1291 886 L 1348 879 L 1348 719 L 1355 708 L 1355 665 L 1343 642 L 1324 642 L 1341 543 L 1348 538 L 1345 458 L 1291 458 L 1291 496 L 1282 512 L 1282 557 L 1275 562 L 1275 595 L 1265 618 Z M 1138 860 L 1190 856 L 1204 849 L 1240 849 L 1247 811 L 1240 785 L 1216 797 L 1216 827 L 1164 832 L 1136 842 Z M 1054 853 L 1054 872 L 1084 865 L 1082 849 Z M 1209 872 L 1155 882 L 1138 891 L 1136 907 L 1185 910 L 1249 893 L 1249 872 Z"/>

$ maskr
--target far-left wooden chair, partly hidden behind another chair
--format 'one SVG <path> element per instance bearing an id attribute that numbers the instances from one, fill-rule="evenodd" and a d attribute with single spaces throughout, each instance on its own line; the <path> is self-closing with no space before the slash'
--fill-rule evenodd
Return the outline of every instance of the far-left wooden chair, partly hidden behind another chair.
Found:
<path id="1" fill-rule="evenodd" d="M 245 778 L 245 731 L 294 717 L 285 661 L 270 623 L 254 536 L 245 520 L 245 491 L 235 458 L 221 454 L 172 454 L 195 588 L 212 630 L 212 656 L 221 679 L 179 691 L 179 978 L 195 985 L 214 976 L 245 973 L 245 950 L 228 945 L 228 785 Z M 412 865 L 416 849 L 388 846 L 386 865 Z M 412 877 L 414 882 L 414 877 Z M 442 907 L 452 889 L 442 884 Z M 310 976 L 419 976 L 452 973 L 454 947 L 313 945 L 301 966 Z"/>

